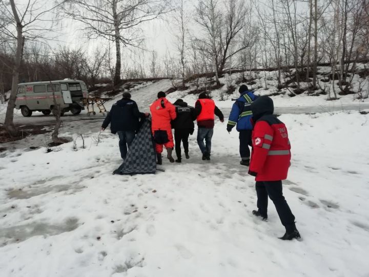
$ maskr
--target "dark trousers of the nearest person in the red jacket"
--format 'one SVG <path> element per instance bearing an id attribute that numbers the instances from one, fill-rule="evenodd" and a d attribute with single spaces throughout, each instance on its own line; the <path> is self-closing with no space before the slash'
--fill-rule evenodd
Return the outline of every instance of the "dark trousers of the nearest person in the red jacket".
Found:
<path id="1" fill-rule="evenodd" d="M 268 196 L 276 207 L 279 219 L 286 231 L 291 232 L 295 228 L 295 216 L 284 199 L 282 193 L 282 181 L 256 181 L 257 207 L 260 214 L 268 216 Z"/>

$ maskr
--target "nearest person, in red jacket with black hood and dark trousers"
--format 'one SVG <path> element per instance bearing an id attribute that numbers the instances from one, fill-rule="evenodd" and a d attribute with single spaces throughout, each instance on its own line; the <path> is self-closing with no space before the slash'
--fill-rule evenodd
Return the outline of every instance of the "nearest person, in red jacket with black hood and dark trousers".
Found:
<path id="1" fill-rule="evenodd" d="M 268 219 L 268 196 L 273 201 L 279 219 L 285 227 L 281 240 L 300 239 L 296 229 L 295 216 L 284 199 L 282 181 L 287 177 L 291 160 L 291 145 L 287 129 L 273 115 L 272 98 L 261 96 L 251 104 L 253 121 L 253 149 L 249 174 L 255 176 L 257 207 L 253 214 Z"/>

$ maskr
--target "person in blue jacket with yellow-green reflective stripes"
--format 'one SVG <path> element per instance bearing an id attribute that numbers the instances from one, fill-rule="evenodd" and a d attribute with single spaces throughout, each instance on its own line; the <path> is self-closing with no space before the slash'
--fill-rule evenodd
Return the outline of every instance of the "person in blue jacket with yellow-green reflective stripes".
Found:
<path id="1" fill-rule="evenodd" d="M 249 145 L 252 146 L 251 133 L 253 129 L 251 122 L 252 111 L 250 105 L 258 96 L 254 95 L 253 91 L 249 91 L 249 88 L 246 85 L 240 86 L 238 92 L 241 94 L 241 96 L 232 106 L 232 110 L 228 119 L 227 131 L 231 132 L 232 128 L 237 125 L 236 129 L 239 132 L 240 140 L 240 164 L 249 166 Z"/>

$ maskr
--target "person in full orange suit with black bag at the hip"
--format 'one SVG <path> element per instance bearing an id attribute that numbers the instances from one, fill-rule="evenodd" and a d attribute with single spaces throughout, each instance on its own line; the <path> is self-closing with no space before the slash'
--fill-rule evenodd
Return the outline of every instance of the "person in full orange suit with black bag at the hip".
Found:
<path id="1" fill-rule="evenodd" d="M 157 164 L 162 164 L 161 152 L 163 146 L 167 148 L 168 160 L 174 163 L 172 156 L 174 143 L 171 121 L 176 118 L 175 106 L 167 100 L 165 92 L 160 91 L 157 97 L 158 99 L 150 106 L 152 116 L 151 131 L 156 143 Z"/>

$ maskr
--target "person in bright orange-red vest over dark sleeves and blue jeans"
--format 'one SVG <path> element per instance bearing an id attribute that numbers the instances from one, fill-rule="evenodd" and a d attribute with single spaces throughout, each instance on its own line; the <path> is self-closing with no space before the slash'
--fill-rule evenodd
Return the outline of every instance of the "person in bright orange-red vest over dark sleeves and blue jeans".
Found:
<path id="1" fill-rule="evenodd" d="M 202 92 L 195 103 L 195 115 L 197 117 L 197 144 L 202 153 L 202 161 L 210 160 L 211 140 L 214 133 L 214 114 L 224 122 L 223 113 L 219 110 L 207 93 Z M 205 143 L 204 143 L 205 140 Z"/>

